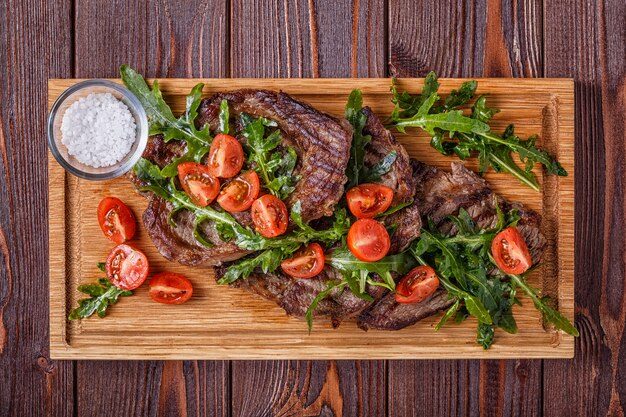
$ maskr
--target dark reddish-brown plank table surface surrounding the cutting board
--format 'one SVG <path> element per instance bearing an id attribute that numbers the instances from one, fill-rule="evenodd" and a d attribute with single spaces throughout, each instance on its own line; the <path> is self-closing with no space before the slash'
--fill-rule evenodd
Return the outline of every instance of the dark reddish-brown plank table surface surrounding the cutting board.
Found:
<path id="1" fill-rule="evenodd" d="M 575 359 L 50 360 L 46 82 L 122 63 L 150 77 L 573 77 Z M 5 0 L 0 416 L 623 415 L 625 112 L 624 0 Z"/>

